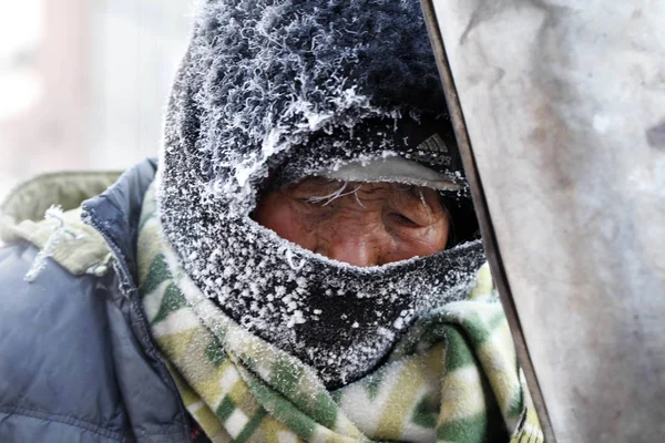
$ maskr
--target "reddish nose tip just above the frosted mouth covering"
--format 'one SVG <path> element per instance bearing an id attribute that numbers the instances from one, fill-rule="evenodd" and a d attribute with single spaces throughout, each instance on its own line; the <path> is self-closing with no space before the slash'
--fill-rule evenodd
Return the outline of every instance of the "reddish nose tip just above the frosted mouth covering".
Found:
<path id="1" fill-rule="evenodd" d="M 335 230 L 327 233 L 330 233 L 325 239 L 327 247 L 321 253 L 328 258 L 352 266 L 382 265 L 382 257 L 391 241 L 382 224 L 376 219 L 338 223 Z"/>

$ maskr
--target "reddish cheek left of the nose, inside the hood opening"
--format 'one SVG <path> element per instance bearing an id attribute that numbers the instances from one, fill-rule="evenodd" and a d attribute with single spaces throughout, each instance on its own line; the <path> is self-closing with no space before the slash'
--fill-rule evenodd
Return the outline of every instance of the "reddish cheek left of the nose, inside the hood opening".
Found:
<path id="1" fill-rule="evenodd" d="M 313 247 L 310 228 L 305 223 L 306 217 L 299 214 L 294 202 L 286 196 L 266 196 L 256 207 L 254 219 L 259 225 L 274 230 L 279 237 L 303 248 Z"/>

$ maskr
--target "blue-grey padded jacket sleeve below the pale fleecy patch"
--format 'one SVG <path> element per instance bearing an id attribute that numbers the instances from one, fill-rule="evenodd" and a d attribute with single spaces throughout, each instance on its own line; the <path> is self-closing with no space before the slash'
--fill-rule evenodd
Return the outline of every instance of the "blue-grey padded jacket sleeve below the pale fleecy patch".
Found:
<path id="1" fill-rule="evenodd" d="M 102 278 L 48 259 L 27 282 L 38 254 L 27 241 L 0 249 L 0 441 L 121 440 Z"/>

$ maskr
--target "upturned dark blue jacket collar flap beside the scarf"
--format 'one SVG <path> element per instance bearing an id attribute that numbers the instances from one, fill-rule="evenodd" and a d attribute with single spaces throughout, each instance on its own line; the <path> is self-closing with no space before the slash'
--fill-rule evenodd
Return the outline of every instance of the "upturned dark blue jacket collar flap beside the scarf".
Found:
<path id="1" fill-rule="evenodd" d="M 136 236 L 143 196 L 155 178 L 150 158 L 126 171 L 109 189 L 83 202 L 82 219 L 104 237 L 115 255 L 125 291 L 136 288 Z"/>

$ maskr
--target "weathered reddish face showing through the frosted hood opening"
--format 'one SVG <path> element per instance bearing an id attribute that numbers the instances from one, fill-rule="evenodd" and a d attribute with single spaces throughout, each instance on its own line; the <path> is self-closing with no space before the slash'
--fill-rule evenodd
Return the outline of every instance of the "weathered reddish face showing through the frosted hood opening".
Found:
<path id="1" fill-rule="evenodd" d="M 254 219 L 305 249 L 355 266 L 446 248 L 449 219 L 436 190 L 390 183 L 344 186 L 310 177 L 272 190 L 258 203 Z"/>

